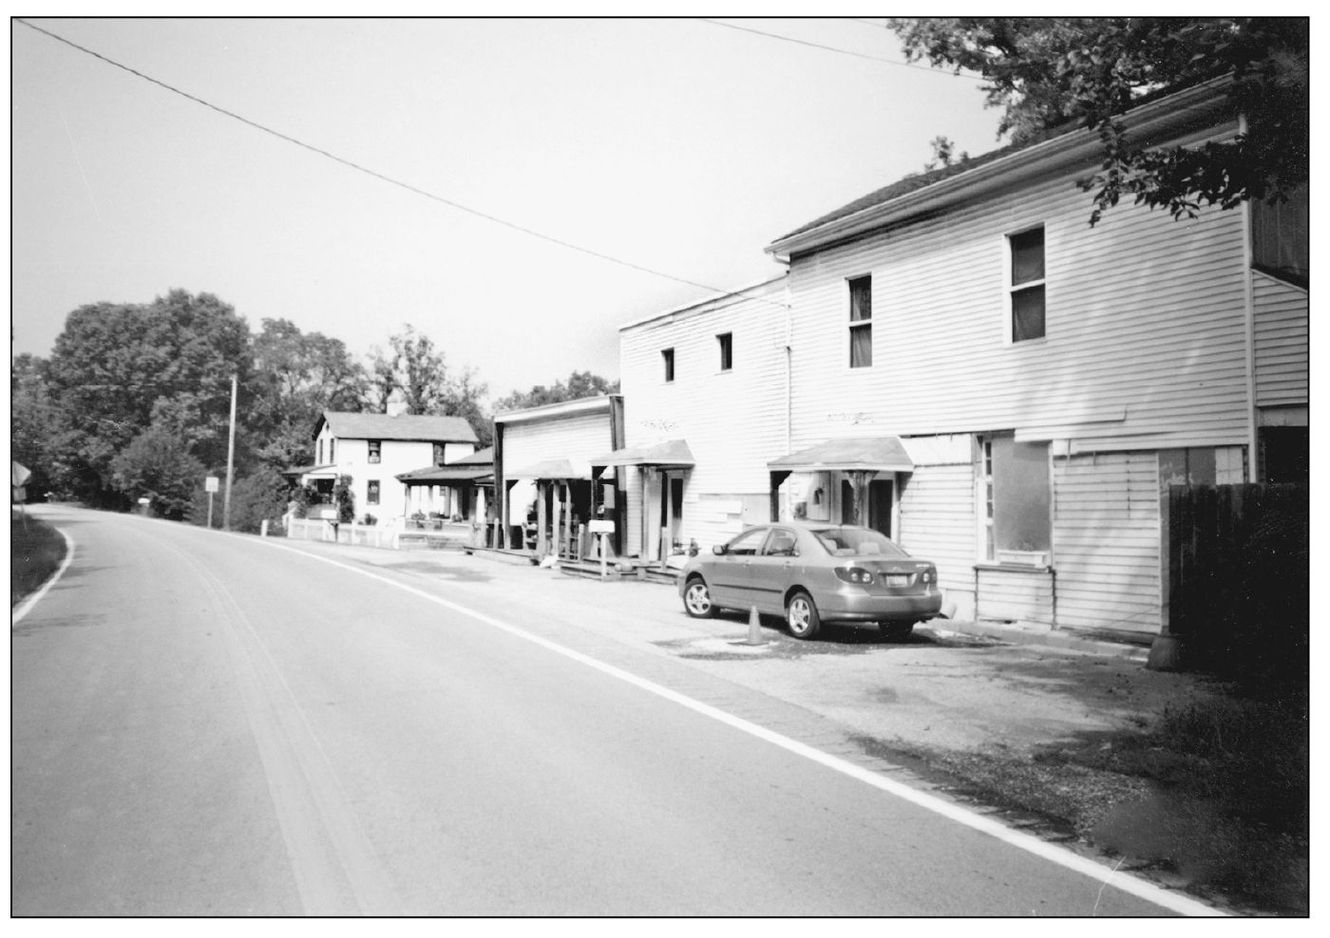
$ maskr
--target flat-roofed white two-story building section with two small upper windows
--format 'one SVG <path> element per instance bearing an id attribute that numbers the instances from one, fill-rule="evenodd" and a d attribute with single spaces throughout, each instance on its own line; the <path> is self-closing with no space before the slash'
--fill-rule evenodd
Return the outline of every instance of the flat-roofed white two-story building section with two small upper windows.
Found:
<path id="1" fill-rule="evenodd" d="M 710 549 L 767 520 L 767 462 L 789 451 L 783 273 L 618 330 L 625 552 Z M 665 532 L 664 539 L 661 532 Z"/>

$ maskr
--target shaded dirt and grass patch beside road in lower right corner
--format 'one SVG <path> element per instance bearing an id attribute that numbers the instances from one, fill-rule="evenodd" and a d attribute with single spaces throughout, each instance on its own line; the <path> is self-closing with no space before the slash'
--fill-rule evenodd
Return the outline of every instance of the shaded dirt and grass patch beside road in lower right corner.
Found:
<path id="1" fill-rule="evenodd" d="M 1007 661 L 994 683 L 998 697 L 1103 706 L 1116 726 L 1056 741 L 1011 734 L 972 749 L 919 734 L 857 741 L 1044 837 L 1117 857 L 1123 869 L 1237 911 L 1307 914 L 1305 709 L 1101 660 Z"/>

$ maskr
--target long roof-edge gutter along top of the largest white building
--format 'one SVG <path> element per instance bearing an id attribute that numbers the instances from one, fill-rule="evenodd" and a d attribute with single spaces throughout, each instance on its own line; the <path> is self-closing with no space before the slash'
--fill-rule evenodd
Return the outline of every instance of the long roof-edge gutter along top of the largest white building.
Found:
<path id="1" fill-rule="evenodd" d="M 1228 105 L 1228 97 L 1221 92 L 1230 82 L 1229 76 L 1212 78 L 1134 108 L 1123 114 L 1121 121 L 1128 130 L 1141 138 L 1140 142 L 1157 145 L 1180 128 L 1201 121 L 1212 122 L 1220 117 Z M 767 245 L 766 253 L 777 259 L 789 259 L 795 254 L 904 221 L 922 212 L 935 212 L 992 194 L 1033 176 L 1068 165 L 1093 162 L 1099 148 L 1099 134 L 1095 130 L 1085 128 L 1072 130 L 886 202 L 870 205 L 842 218 L 833 218 L 818 228 L 779 238 Z"/>

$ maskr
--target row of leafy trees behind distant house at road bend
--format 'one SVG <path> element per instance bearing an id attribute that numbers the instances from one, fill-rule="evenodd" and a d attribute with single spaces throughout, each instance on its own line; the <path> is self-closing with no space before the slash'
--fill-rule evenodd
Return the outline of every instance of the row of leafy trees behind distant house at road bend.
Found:
<path id="1" fill-rule="evenodd" d="M 19 355 L 11 371 L 13 458 L 32 470 L 28 491 L 92 507 L 202 523 L 203 480 L 225 475 L 231 381 L 237 383 L 231 527 L 257 530 L 291 495 L 282 471 L 311 462 L 326 410 L 455 415 L 492 435 L 488 386 L 456 369 L 411 325 L 358 361 L 346 345 L 289 319 L 250 329 L 210 293 L 172 290 L 150 303 L 90 303 L 65 321 L 48 358 Z M 617 391 L 589 371 L 553 387 L 513 392 L 515 410 Z"/>

